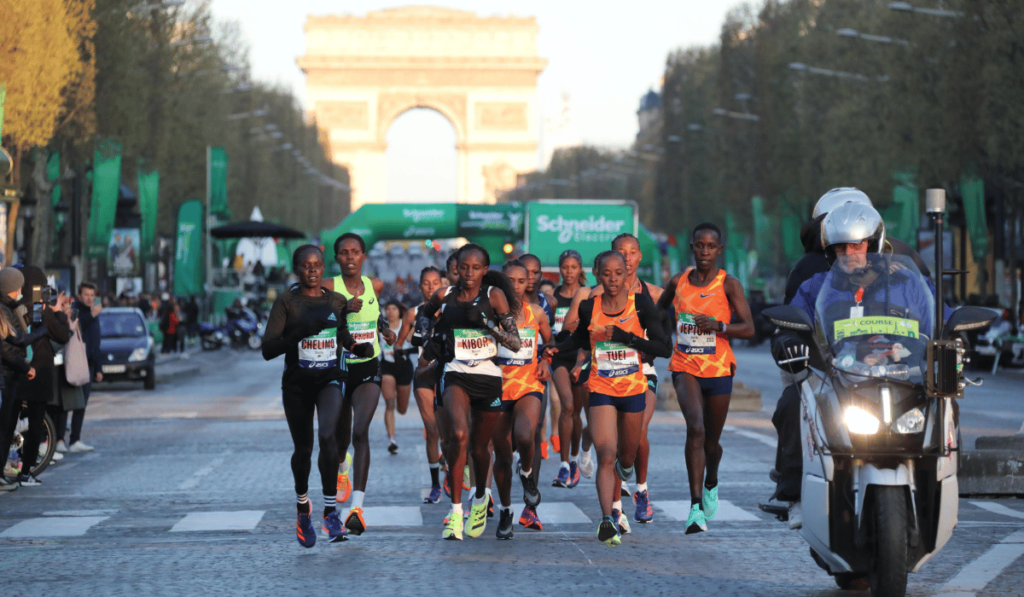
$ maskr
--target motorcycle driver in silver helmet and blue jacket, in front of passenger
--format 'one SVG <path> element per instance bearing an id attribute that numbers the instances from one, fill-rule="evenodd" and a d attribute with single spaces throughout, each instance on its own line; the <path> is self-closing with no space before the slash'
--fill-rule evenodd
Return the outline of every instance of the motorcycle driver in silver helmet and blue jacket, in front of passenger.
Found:
<path id="1" fill-rule="evenodd" d="M 845 200 L 840 202 L 840 200 Z M 827 211 L 825 211 L 827 210 Z M 914 258 L 919 269 L 927 275 L 927 267 L 922 262 L 920 256 L 905 244 L 902 247 L 895 246 L 891 240 L 886 239 L 885 222 L 871 205 L 870 200 L 863 193 L 854 188 L 839 188 L 826 193 L 818 201 L 815 207 L 815 218 L 819 221 L 821 253 L 805 255 L 801 262 L 791 273 L 790 284 L 787 284 L 787 302 L 807 312 L 808 316 L 814 319 L 815 303 L 820 290 L 825 284 L 834 286 L 834 290 L 844 289 L 849 295 L 849 304 L 856 304 L 857 290 L 864 288 L 867 300 L 871 303 L 871 313 L 865 309 L 865 314 L 893 314 L 886 312 L 873 312 L 878 304 L 872 302 L 877 298 L 879 289 L 887 287 L 904 288 L 907 296 L 890 297 L 899 305 L 900 315 L 909 312 L 928 312 L 927 304 L 922 301 L 932 300 L 932 297 L 916 296 L 912 289 L 920 289 L 920 285 L 903 283 L 900 280 L 888 279 L 888 275 L 907 276 L 906 272 L 890 271 L 887 264 L 887 256 L 892 254 L 905 254 Z M 807 227 L 805 227 L 805 232 Z M 807 242 L 805 240 L 805 246 Z M 841 259 L 838 271 L 843 271 L 847 275 L 830 276 L 829 268 L 837 258 Z M 816 271 L 815 271 L 816 270 Z M 842 280 L 841 280 L 842 278 Z M 796 279 L 796 280 L 795 280 Z M 803 280 L 801 280 L 803 279 Z M 880 281 L 882 283 L 880 284 Z M 794 284 L 794 283 L 797 284 Z M 909 278 L 906 279 L 909 282 Z M 854 286 L 854 283 L 860 283 Z M 930 282 L 929 282 L 930 285 Z M 790 287 L 796 286 L 790 296 Z M 845 295 L 831 293 L 830 297 L 841 299 Z M 846 301 L 842 301 L 846 302 Z M 867 303 L 865 303 L 865 306 Z M 890 305 L 892 306 L 892 305 Z M 841 308 L 836 305 L 836 308 Z M 925 310 L 920 310 L 925 309 Z M 932 323 L 921 322 L 920 330 L 923 334 L 931 336 Z M 830 333 L 830 331 L 827 331 Z M 786 360 L 793 356 L 807 353 L 804 340 L 792 333 L 780 333 L 772 339 L 772 353 L 776 360 Z M 782 380 L 785 388 L 782 396 L 776 404 L 775 413 L 772 416 L 772 423 L 778 432 L 778 447 L 775 458 L 775 469 L 777 471 L 777 486 L 773 499 L 790 503 L 790 527 L 800 528 L 803 524 L 800 510 L 800 491 L 803 476 L 803 454 L 800 441 L 800 391 L 799 383 L 809 375 L 807 372 L 807 360 L 793 360 L 782 371 Z"/>

